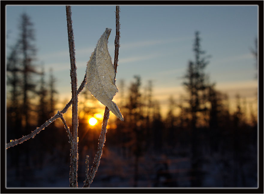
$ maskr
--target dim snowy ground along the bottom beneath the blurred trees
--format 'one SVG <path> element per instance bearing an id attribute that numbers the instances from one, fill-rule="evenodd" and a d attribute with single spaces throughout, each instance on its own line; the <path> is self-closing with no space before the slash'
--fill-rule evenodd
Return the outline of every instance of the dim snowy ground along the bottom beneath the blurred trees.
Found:
<path id="1" fill-rule="evenodd" d="M 252 148 L 248 160 L 242 165 L 232 160 L 230 153 L 203 155 L 202 187 L 257 187 L 256 152 Z M 135 181 L 135 156 L 124 158 L 118 148 L 104 147 L 98 172 L 91 184 L 91 188 L 121 188 L 121 187 L 191 187 L 191 158 L 189 150 L 179 154 L 177 150 L 166 149 L 161 154 L 145 153 L 139 157 L 137 181 Z M 78 185 L 83 186 L 85 177 L 84 158 L 79 155 Z M 89 157 L 89 166 L 93 161 Z M 68 188 L 70 164 L 58 153 L 47 154 L 43 167 L 32 165 L 30 168 L 20 169 L 20 176 L 16 177 L 15 166 L 7 165 L 7 188 Z M 235 168 L 237 168 L 235 170 Z M 235 174 L 236 172 L 236 174 Z M 237 181 L 235 181 L 235 177 Z"/>

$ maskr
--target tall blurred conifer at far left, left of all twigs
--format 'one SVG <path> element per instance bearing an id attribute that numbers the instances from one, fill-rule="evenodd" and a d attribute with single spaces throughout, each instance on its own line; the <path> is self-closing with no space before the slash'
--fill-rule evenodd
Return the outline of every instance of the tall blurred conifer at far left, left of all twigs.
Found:
<path id="1" fill-rule="evenodd" d="M 30 120 L 37 121 L 36 114 L 31 114 L 35 109 L 31 99 L 37 95 L 35 88 L 37 84 L 32 76 L 39 74 L 33 64 L 36 49 L 34 46 L 34 31 L 32 25 L 29 16 L 23 13 L 18 26 L 18 40 L 11 49 L 10 58 L 7 62 L 7 74 L 9 76 L 7 85 L 11 88 L 8 90 L 8 93 L 11 95 L 11 105 L 9 106 L 7 104 L 7 115 L 11 114 L 10 119 L 13 118 L 14 121 L 7 120 L 7 134 L 10 134 L 10 131 L 12 131 L 13 135 L 11 138 L 18 138 L 22 135 L 29 134 L 32 131 L 30 128 Z M 34 119 L 32 119 L 33 117 Z M 30 174 L 29 144 L 21 145 L 20 148 L 17 148 L 19 151 L 15 153 L 15 161 L 19 161 L 19 165 L 22 166 L 18 166 L 16 162 L 16 178 L 19 178 L 20 175 Z M 22 159 L 22 155 L 25 160 Z M 25 170 L 27 170 L 27 173 L 23 172 Z M 24 179 L 20 183 L 20 186 L 23 187 Z"/>

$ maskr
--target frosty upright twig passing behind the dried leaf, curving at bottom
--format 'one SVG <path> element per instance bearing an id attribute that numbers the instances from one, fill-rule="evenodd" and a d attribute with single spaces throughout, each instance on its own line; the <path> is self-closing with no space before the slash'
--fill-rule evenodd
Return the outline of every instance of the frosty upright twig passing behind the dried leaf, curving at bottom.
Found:
<path id="1" fill-rule="evenodd" d="M 116 6 L 116 38 L 115 38 L 115 59 L 114 59 L 114 69 L 115 69 L 115 73 L 116 73 L 116 69 L 117 69 L 117 62 L 118 62 L 118 54 L 119 54 L 119 37 L 120 37 L 120 17 L 119 17 L 119 11 L 120 11 L 120 7 Z M 107 107 L 105 107 L 104 110 L 104 119 L 103 119 L 103 123 L 102 123 L 102 129 L 101 129 L 101 134 L 99 136 L 99 142 L 98 142 L 98 148 L 97 148 L 97 152 L 95 154 L 95 159 L 93 162 L 93 166 L 91 167 L 91 171 L 88 175 L 88 178 L 84 181 L 84 185 L 83 187 L 90 187 L 94 177 L 95 177 L 95 173 L 98 169 L 98 166 L 100 164 L 100 160 L 101 160 L 101 156 L 103 153 L 103 147 L 104 147 L 104 143 L 105 143 L 105 134 L 107 133 L 107 122 L 109 119 L 109 109 Z"/>

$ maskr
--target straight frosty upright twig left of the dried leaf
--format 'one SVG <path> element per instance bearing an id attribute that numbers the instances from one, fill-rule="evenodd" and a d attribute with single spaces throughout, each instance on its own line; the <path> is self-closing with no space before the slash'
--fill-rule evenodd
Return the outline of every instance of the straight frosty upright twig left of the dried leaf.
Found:
<path id="1" fill-rule="evenodd" d="M 66 6 L 68 42 L 70 52 L 70 78 L 72 92 L 72 138 L 73 145 L 70 151 L 70 187 L 78 187 L 78 94 L 77 94 L 77 73 L 75 64 L 74 36 L 71 20 L 71 7 Z"/>

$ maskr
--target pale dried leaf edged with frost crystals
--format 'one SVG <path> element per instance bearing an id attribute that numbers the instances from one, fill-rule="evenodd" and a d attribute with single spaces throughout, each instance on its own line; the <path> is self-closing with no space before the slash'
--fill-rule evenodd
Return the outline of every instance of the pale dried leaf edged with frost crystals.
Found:
<path id="1" fill-rule="evenodd" d="M 119 107 L 112 101 L 118 89 L 115 84 L 115 69 L 107 49 L 111 30 L 106 28 L 87 62 L 86 83 L 91 94 L 123 121 Z"/>

